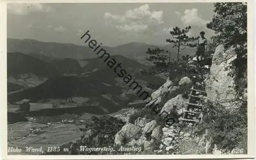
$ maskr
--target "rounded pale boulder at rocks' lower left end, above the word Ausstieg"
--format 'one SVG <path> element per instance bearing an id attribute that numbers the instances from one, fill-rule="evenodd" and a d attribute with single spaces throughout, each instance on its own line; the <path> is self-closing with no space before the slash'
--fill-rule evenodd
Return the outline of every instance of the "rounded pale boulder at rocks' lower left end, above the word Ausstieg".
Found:
<path id="1" fill-rule="evenodd" d="M 127 122 L 121 130 L 116 133 L 115 145 L 124 145 L 132 139 L 139 139 L 141 136 L 141 127 Z"/>

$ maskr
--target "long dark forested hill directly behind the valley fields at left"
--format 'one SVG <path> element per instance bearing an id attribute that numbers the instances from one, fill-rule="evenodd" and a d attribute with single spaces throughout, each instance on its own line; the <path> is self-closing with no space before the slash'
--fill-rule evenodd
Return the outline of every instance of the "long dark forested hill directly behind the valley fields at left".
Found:
<path id="1" fill-rule="evenodd" d="M 36 87 L 11 94 L 8 96 L 8 101 L 14 102 L 25 98 L 36 101 L 74 96 L 93 97 L 101 94 L 121 94 L 121 89 L 118 86 L 106 86 L 97 77 L 64 76 L 49 79 Z"/>

